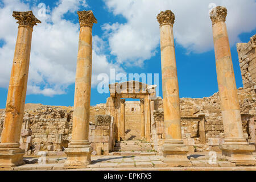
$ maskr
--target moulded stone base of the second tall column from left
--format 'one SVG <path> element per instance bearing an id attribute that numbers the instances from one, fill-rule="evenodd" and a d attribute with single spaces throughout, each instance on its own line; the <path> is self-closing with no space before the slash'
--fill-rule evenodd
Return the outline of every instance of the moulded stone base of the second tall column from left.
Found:
<path id="1" fill-rule="evenodd" d="M 90 155 L 92 151 L 88 141 L 72 141 L 68 148 L 65 148 L 67 160 L 64 163 L 64 169 L 87 168 L 91 163 Z"/>

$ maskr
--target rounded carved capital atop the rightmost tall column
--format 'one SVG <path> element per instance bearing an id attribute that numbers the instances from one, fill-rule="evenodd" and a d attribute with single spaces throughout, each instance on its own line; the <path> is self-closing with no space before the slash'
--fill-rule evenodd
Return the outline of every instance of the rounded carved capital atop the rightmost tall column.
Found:
<path id="1" fill-rule="evenodd" d="M 212 20 L 212 24 L 218 23 L 218 22 L 225 22 L 226 21 L 226 15 L 228 15 L 228 10 L 226 10 L 225 7 L 217 6 L 210 11 L 210 19 Z"/>

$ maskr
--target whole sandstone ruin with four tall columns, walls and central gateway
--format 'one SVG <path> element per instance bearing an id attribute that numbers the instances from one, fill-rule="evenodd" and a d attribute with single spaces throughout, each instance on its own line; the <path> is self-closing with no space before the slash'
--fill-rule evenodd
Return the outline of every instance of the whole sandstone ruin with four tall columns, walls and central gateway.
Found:
<path id="1" fill-rule="evenodd" d="M 218 93 L 179 97 L 172 30 L 175 15 L 167 10 L 157 16 L 163 98 L 155 96 L 159 85 L 127 81 L 110 84 L 106 103 L 96 106 L 90 106 L 90 89 L 92 27 L 97 19 L 92 11 L 78 15 L 75 104 L 64 107 L 24 104 L 31 35 L 40 21 L 32 11 L 14 12 L 19 32 L 6 109 L 0 110 L 0 168 L 20 166 L 23 156 L 38 156 L 41 151 L 47 156 L 66 156 L 61 169 L 90 167 L 95 155 L 155 155 L 161 156 L 155 167 L 207 167 L 212 164 L 192 161 L 188 155 L 210 151 L 218 152 L 225 165 L 255 166 L 256 35 L 248 43 L 237 44 L 243 80 L 243 88 L 237 89 L 225 7 L 218 6 L 210 14 Z M 134 101 L 126 101 L 131 98 Z"/>

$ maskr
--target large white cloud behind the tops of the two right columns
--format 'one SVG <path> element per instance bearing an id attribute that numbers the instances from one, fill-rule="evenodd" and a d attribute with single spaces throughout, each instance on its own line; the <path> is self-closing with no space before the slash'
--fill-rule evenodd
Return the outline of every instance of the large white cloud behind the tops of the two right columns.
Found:
<path id="1" fill-rule="evenodd" d="M 105 24 L 109 34 L 111 53 L 119 63 L 141 65 L 155 55 L 160 43 L 159 23 L 156 16 L 170 9 L 175 14 L 174 36 L 187 52 L 202 53 L 213 49 L 212 24 L 209 4 L 225 6 L 230 43 L 240 42 L 238 35 L 256 28 L 256 2 L 254 0 L 104 0 L 114 15 L 122 15 L 127 23 Z"/>

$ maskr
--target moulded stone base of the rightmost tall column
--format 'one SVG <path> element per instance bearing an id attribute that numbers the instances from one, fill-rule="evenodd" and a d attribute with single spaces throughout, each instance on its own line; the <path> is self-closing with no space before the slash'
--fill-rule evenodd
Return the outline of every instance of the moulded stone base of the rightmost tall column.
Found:
<path id="1" fill-rule="evenodd" d="M 222 155 L 226 156 L 229 162 L 236 163 L 236 166 L 255 166 L 256 160 L 252 154 L 255 151 L 254 145 L 248 143 L 223 143 L 220 146 Z"/>

